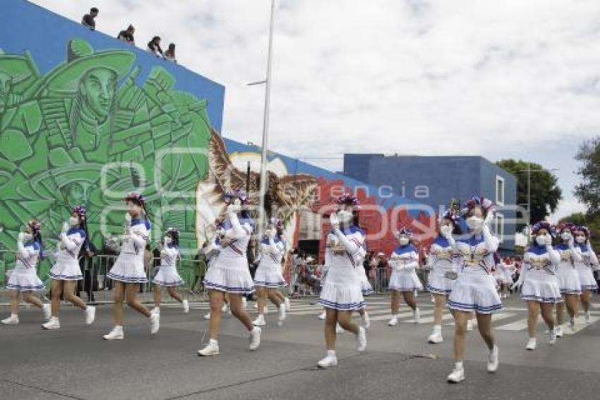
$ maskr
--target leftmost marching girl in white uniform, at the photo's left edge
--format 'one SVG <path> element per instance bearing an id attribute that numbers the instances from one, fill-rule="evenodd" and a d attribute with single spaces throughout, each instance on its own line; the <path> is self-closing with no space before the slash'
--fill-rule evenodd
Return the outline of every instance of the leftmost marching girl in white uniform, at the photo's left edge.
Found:
<path id="1" fill-rule="evenodd" d="M 13 269 L 6 288 L 10 290 L 11 316 L 2 319 L 6 325 L 19 323 L 19 293 L 23 293 L 23 300 L 40 307 L 44 311 L 44 318 L 50 318 L 50 305 L 44 304 L 32 292 L 44 290 L 44 283 L 37 277 L 37 261 L 42 256 L 42 225 L 37 220 L 30 220 L 25 226 L 25 232 L 20 232 L 17 238 L 17 254 L 15 269 Z"/>

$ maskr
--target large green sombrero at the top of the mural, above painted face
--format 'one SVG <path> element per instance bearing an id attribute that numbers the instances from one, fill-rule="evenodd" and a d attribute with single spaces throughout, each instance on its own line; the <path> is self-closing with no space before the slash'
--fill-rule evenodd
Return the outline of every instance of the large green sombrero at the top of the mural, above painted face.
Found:
<path id="1" fill-rule="evenodd" d="M 85 73 L 96 68 L 114 71 L 118 80 L 126 76 L 136 61 L 136 54 L 123 49 L 94 52 L 88 42 L 73 39 L 68 42 L 64 64 L 50 72 L 44 88 L 55 92 L 75 92 Z"/>

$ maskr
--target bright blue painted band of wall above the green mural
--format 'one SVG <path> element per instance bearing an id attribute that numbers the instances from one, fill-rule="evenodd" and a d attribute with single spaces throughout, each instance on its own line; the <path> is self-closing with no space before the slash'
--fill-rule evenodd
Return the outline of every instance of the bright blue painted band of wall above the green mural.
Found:
<path id="1" fill-rule="evenodd" d="M 160 64 L 175 77 L 176 90 L 186 90 L 199 99 L 208 101 L 210 124 L 216 131 L 221 131 L 225 88 L 219 83 L 178 64 L 157 59 L 144 49 L 127 45 L 104 33 L 89 30 L 80 23 L 28 1 L 1 0 L 1 3 L 0 49 L 5 53 L 23 54 L 29 51 L 40 73 L 44 74 L 66 59 L 65 37 L 80 37 L 89 42 L 95 51 L 119 48 L 133 51 L 137 57 L 136 65 L 142 68 L 138 83 L 145 81 L 152 66 Z M 52 29 L 47 29 L 48 25 L 51 25 Z"/>

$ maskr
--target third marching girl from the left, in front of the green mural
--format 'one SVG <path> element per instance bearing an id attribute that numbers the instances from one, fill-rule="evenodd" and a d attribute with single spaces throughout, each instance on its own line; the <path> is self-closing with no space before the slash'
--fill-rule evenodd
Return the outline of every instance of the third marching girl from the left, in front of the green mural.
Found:
<path id="1" fill-rule="evenodd" d="M 150 312 L 148 307 L 137 299 L 140 283 L 148 282 L 144 270 L 144 249 L 150 241 L 150 221 L 145 208 L 144 197 L 131 192 L 125 198 L 128 211 L 126 233 L 121 237 L 121 253 L 107 276 L 114 281 L 114 328 L 104 335 L 106 340 L 124 339 L 123 302 L 127 299 L 129 307 L 148 317 L 150 333 L 156 334 L 160 327 L 160 314 Z M 130 220 L 131 218 L 131 220 Z"/>

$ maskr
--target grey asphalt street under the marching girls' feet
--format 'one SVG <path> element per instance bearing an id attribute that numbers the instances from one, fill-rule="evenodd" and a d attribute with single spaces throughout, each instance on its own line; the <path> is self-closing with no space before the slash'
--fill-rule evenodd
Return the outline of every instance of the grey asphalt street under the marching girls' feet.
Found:
<path id="1" fill-rule="evenodd" d="M 597 297 L 592 324 L 581 318 L 577 331 L 555 346 L 548 345 L 540 324 L 533 352 L 524 349 L 524 302 L 517 295 L 505 300 L 494 322 L 498 372 L 486 372 L 487 351 L 475 330 L 467 339 L 467 379 L 461 384 L 445 381 L 452 369 L 452 319 L 444 319 L 443 343 L 426 343 L 432 311 L 427 294 L 419 296 L 424 322 L 410 322 L 401 306 L 396 327 L 387 326 L 388 298 L 369 299 L 367 351 L 356 353 L 354 336 L 341 334 L 340 363 L 329 370 L 315 367 L 325 349 L 323 322 L 312 302 L 292 300 L 283 327 L 277 327 L 271 306 L 256 352 L 248 351 L 242 325 L 224 319 L 221 354 L 210 358 L 196 355 L 208 341 L 205 303 L 193 303 L 189 314 L 176 305 L 162 307 L 155 336 L 147 319 L 126 310 L 125 339 L 110 342 L 102 340 L 112 328 L 109 305 L 98 307 L 90 327 L 80 310 L 64 305 L 56 331 L 43 331 L 40 310 L 23 307 L 20 324 L 0 326 L 0 399 L 600 399 Z M 8 307 L 0 312 L 8 315 Z"/>

